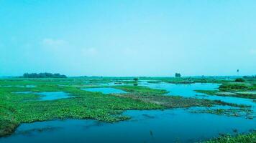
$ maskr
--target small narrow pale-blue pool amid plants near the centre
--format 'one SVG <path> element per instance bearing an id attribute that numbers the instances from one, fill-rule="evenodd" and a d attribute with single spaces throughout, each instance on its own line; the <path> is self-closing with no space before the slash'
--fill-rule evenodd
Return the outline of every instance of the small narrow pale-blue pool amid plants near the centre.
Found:
<path id="1" fill-rule="evenodd" d="M 121 89 L 114 89 L 110 87 L 102 87 L 102 88 L 88 88 L 88 89 L 83 89 L 88 92 L 101 92 L 103 94 L 125 94 L 127 92 L 124 92 Z"/>

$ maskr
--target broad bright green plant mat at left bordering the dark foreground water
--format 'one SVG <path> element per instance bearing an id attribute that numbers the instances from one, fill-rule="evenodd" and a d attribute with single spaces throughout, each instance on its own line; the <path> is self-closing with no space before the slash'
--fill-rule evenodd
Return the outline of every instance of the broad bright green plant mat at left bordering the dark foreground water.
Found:
<path id="1" fill-rule="evenodd" d="M 6 81 L 4 81 L 6 83 Z M 21 81 L 18 82 L 21 84 Z M 26 82 L 27 83 L 27 82 Z M 0 88 L 0 137 L 11 134 L 24 122 L 37 122 L 50 119 L 98 119 L 104 122 L 117 122 L 129 117 L 120 113 L 127 109 L 163 109 L 158 104 L 139 100 L 114 97 L 99 92 L 86 92 L 76 87 L 60 87 L 56 84 L 38 84 L 35 88 Z M 31 82 L 29 84 L 36 84 Z M 67 92 L 74 97 L 53 101 L 37 101 L 35 94 L 15 94 L 13 92 Z"/>

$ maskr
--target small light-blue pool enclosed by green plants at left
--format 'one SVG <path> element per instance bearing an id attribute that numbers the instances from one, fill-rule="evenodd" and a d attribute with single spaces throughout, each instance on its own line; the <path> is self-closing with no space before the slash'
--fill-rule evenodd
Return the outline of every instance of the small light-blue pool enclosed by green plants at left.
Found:
<path id="1" fill-rule="evenodd" d="M 16 94 L 37 94 L 40 95 L 40 101 L 50 101 L 56 99 L 70 98 L 70 94 L 65 92 L 14 92 Z"/>

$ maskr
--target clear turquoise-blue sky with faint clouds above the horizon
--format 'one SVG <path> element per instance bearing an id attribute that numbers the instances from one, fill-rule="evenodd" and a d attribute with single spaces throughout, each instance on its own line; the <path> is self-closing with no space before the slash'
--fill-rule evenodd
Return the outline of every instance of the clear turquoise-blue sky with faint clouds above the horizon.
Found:
<path id="1" fill-rule="evenodd" d="M 256 1 L 0 0 L 0 76 L 256 74 Z"/>

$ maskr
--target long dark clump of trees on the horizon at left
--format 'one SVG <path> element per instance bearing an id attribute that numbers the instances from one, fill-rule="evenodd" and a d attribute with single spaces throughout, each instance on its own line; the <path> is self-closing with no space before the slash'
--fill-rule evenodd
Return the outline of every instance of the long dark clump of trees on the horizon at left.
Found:
<path id="1" fill-rule="evenodd" d="M 52 73 L 25 73 L 23 74 L 24 78 L 66 78 L 67 76 L 63 75 L 63 74 L 52 74 Z"/>

